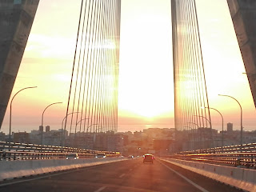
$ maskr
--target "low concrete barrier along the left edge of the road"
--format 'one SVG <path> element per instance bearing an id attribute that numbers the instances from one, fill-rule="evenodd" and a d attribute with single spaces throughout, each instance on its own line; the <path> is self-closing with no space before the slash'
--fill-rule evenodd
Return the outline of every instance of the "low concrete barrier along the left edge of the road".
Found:
<path id="1" fill-rule="evenodd" d="M 85 166 L 96 166 L 110 162 L 120 162 L 127 158 L 86 158 L 86 159 L 49 159 L 26 161 L 1 161 L 0 181 L 30 175 L 46 174 L 60 170 L 70 170 Z"/>

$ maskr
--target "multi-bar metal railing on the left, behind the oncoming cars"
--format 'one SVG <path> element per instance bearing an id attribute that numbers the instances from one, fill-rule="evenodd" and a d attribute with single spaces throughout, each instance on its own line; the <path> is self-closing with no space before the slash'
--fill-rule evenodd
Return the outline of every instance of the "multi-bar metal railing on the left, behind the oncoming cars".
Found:
<path id="1" fill-rule="evenodd" d="M 0 160 L 63 159 L 70 153 L 78 154 L 79 158 L 94 158 L 98 153 L 105 153 L 107 157 L 119 156 L 118 153 L 112 151 L 85 150 L 62 146 L 43 146 L 18 142 L 0 142 Z"/>

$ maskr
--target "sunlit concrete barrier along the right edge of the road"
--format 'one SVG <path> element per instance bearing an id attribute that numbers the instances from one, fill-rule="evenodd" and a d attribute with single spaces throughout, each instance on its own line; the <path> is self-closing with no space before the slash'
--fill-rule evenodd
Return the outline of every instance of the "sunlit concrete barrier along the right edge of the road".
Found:
<path id="1" fill-rule="evenodd" d="M 160 158 L 162 161 L 181 166 L 208 178 L 224 182 L 242 190 L 256 191 L 256 170 L 243 169 L 232 166 L 220 166 L 204 162 L 190 162 L 174 158 Z"/>

